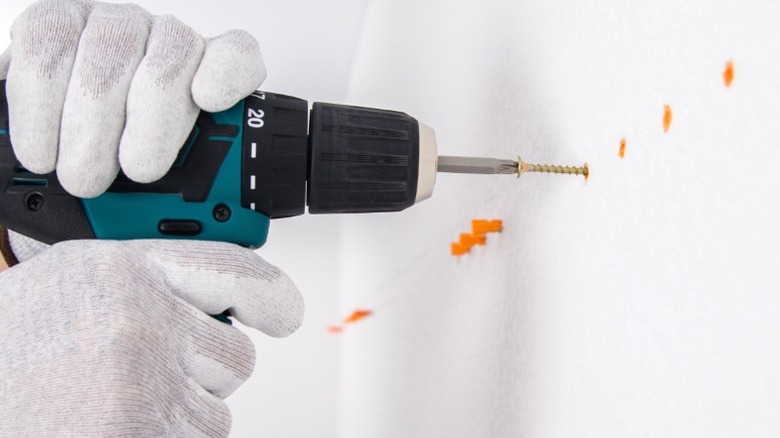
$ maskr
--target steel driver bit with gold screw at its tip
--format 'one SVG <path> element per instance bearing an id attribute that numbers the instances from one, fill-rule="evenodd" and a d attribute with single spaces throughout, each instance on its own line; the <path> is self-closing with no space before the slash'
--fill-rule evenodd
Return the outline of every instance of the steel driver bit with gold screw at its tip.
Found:
<path id="1" fill-rule="evenodd" d="M 520 157 L 517 157 L 517 161 L 514 161 L 497 158 L 440 156 L 438 171 L 447 173 L 517 174 L 518 177 L 526 172 L 584 175 L 585 178 L 589 174 L 588 163 L 585 163 L 582 167 L 528 164 L 521 160 Z"/>

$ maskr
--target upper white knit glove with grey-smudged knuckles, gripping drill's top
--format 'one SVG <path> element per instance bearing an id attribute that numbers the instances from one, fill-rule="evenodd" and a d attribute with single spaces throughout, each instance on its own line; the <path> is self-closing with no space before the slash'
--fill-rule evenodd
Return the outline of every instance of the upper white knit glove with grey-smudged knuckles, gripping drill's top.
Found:
<path id="1" fill-rule="evenodd" d="M 11 39 L 0 78 L 14 152 L 79 197 L 103 193 L 120 164 L 137 182 L 163 177 L 201 109 L 228 109 L 266 77 L 248 33 L 204 39 L 135 5 L 41 0 Z"/>

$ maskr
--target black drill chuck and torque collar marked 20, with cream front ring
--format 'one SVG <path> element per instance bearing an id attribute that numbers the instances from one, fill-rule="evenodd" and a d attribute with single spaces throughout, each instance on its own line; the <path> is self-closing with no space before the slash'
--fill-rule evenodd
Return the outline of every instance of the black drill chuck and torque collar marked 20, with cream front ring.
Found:
<path id="1" fill-rule="evenodd" d="M 243 205 L 271 219 L 400 211 L 432 192 L 433 131 L 404 113 L 317 102 L 307 117 L 305 101 L 271 93 L 245 111 Z"/>

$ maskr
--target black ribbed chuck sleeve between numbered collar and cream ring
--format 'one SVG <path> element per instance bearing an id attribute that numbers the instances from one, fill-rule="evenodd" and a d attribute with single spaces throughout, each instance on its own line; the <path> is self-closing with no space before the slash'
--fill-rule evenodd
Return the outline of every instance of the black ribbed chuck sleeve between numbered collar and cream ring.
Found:
<path id="1" fill-rule="evenodd" d="M 309 134 L 309 213 L 401 211 L 414 205 L 417 121 L 396 111 L 315 103 Z"/>

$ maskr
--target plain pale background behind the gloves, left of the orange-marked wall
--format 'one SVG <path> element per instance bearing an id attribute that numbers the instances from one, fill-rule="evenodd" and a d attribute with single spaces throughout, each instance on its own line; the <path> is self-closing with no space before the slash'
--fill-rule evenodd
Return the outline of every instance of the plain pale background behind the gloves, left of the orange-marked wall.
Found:
<path id="1" fill-rule="evenodd" d="M 263 48 L 268 68 L 263 89 L 336 102 L 345 97 L 366 5 L 365 0 L 134 3 L 156 14 L 173 14 L 207 36 L 247 29 Z M 29 4 L 32 1 L 3 1 L 0 47 L 9 43 L 11 23 Z M 306 320 L 283 340 L 249 332 L 257 366 L 252 378 L 228 398 L 232 437 L 335 436 L 339 338 L 328 335 L 326 327 L 338 315 L 339 263 L 334 253 L 339 235 L 339 220 L 333 216 L 272 223 L 269 243 L 259 254 L 285 270 L 301 289 Z"/>

